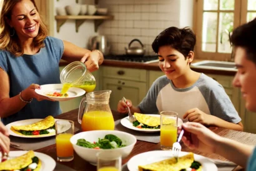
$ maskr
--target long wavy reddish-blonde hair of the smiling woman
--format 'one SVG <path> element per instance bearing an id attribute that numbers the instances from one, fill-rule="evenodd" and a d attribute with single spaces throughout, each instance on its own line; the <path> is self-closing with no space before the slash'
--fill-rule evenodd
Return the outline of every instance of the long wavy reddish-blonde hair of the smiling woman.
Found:
<path id="1" fill-rule="evenodd" d="M 21 42 L 19 41 L 19 37 L 17 34 L 11 36 L 13 31 L 11 31 L 11 27 L 9 26 L 7 19 L 11 20 L 11 12 L 13 7 L 17 4 L 17 2 L 21 2 L 22 0 L 4 0 L 2 3 L 2 11 L 0 16 L 0 49 L 9 51 L 16 55 L 17 57 L 24 54 L 24 49 L 22 48 Z M 34 0 L 30 0 L 37 9 L 36 2 Z M 41 17 L 40 17 L 41 18 Z M 40 19 L 40 26 L 37 36 L 33 39 L 34 48 L 44 47 L 44 39 L 47 36 L 47 27 L 46 24 Z"/>

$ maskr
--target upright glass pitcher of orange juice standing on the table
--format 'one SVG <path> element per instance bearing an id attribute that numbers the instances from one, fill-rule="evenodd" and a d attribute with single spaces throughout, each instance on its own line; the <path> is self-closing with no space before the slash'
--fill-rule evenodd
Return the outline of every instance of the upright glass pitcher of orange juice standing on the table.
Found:
<path id="1" fill-rule="evenodd" d="M 78 122 L 82 131 L 114 130 L 115 122 L 109 106 L 111 90 L 87 93 L 79 106 Z"/>

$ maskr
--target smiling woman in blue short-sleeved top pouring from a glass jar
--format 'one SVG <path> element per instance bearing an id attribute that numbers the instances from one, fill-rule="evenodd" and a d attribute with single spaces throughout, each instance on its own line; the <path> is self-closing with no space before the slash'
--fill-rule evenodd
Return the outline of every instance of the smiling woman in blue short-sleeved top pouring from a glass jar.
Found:
<path id="1" fill-rule="evenodd" d="M 104 59 L 99 50 L 91 52 L 47 36 L 34 0 L 4 0 L 0 28 L 0 117 L 4 124 L 61 113 L 59 102 L 34 91 L 40 85 L 60 83 L 61 58 L 80 60 L 91 72 Z"/>

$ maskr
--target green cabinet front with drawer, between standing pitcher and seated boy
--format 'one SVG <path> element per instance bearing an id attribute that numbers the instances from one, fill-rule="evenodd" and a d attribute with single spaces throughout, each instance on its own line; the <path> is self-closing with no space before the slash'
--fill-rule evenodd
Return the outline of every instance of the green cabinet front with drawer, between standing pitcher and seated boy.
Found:
<path id="1" fill-rule="evenodd" d="M 126 97 L 137 106 L 147 93 L 147 71 L 119 68 L 119 67 L 101 67 L 102 68 L 102 88 L 111 90 L 109 105 L 111 109 L 117 109 L 117 104 L 122 97 Z"/>

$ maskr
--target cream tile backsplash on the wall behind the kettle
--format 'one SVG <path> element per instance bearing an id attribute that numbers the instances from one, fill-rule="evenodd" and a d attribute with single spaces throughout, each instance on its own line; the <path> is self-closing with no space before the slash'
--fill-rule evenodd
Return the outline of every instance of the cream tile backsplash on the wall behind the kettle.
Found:
<path id="1" fill-rule="evenodd" d="M 139 39 L 146 55 L 154 55 L 151 44 L 155 37 L 167 27 L 180 25 L 179 0 L 107 0 L 99 1 L 99 6 L 107 7 L 114 16 L 98 32 L 107 36 L 113 54 L 124 54 L 129 42 Z M 132 45 L 140 46 L 137 42 Z"/>

